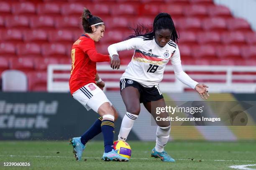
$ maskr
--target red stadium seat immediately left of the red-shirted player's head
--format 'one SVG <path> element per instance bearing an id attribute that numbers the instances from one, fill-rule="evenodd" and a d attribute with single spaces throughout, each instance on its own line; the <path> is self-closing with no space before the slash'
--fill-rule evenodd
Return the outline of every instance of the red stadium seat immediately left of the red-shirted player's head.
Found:
<path id="1" fill-rule="evenodd" d="M 82 20 L 78 17 L 59 17 L 55 19 L 55 26 L 58 29 L 77 30 L 82 25 Z"/>

